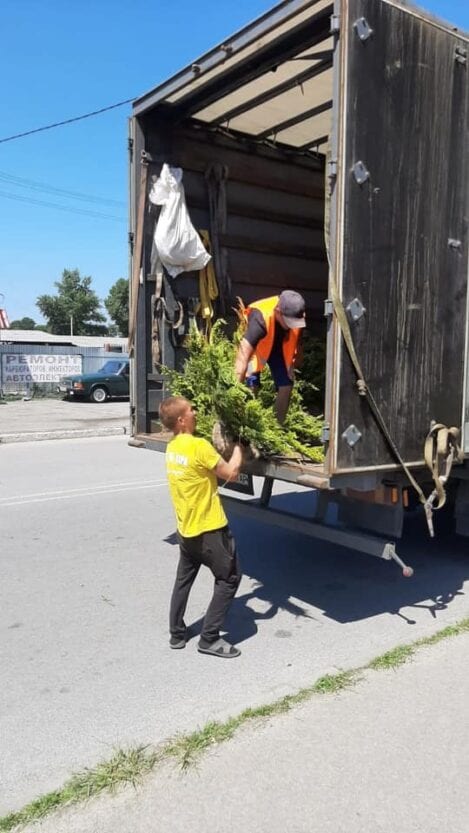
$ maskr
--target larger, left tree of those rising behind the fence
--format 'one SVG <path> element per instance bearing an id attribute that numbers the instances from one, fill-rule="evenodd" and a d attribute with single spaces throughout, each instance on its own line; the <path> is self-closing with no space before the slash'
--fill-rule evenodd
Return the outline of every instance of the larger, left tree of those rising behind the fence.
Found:
<path id="1" fill-rule="evenodd" d="M 64 269 L 56 281 L 56 295 L 40 295 L 36 301 L 47 329 L 56 335 L 106 335 L 106 321 L 101 303 L 91 289 L 91 278 L 82 277 L 78 269 Z"/>

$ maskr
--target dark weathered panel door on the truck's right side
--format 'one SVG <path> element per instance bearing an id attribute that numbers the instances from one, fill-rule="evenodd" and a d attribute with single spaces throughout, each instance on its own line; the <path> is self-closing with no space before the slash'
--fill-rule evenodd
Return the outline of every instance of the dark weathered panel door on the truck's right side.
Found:
<path id="1" fill-rule="evenodd" d="M 336 279 L 389 436 L 422 466 L 432 423 L 464 433 L 468 407 L 467 39 L 402 3 L 336 8 Z M 329 347 L 331 473 L 392 470 L 338 327 Z"/>

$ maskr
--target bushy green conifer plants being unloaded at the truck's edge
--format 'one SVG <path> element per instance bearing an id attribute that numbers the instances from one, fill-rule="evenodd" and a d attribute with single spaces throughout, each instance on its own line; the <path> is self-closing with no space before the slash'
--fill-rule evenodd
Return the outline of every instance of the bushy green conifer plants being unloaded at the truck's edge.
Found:
<path id="1" fill-rule="evenodd" d="M 308 414 L 295 386 L 288 417 L 280 426 L 274 415 L 275 388 L 270 374 L 262 374 L 262 388 L 255 398 L 234 373 L 236 335 L 228 339 L 224 322 L 214 324 L 208 341 L 193 328 L 188 340 L 188 358 L 183 373 L 164 368 L 170 392 L 189 399 L 197 410 L 197 433 L 211 440 L 218 420 L 236 439 L 242 438 L 263 455 L 301 455 L 323 459 L 320 446 L 322 421 Z"/>

